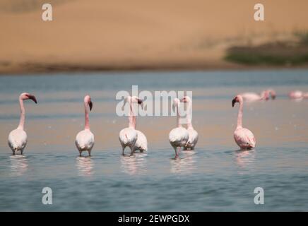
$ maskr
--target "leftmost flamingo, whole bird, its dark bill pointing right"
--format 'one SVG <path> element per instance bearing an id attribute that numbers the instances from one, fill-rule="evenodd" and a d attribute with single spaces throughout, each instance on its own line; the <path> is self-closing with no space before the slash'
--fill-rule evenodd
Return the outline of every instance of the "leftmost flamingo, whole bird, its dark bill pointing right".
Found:
<path id="1" fill-rule="evenodd" d="M 11 131 L 8 134 L 8 145 L 13 151 L 13 155 L 16 152 L 20 152 L 20 155 L 23 155 L 23 149 L 25 145 L 27 145 L 27 133 L 25 133 L 24 125 L 25 125 L 25 107 L 23 107 L 23 100 L 33 100 L 35 104 L 37 104 L 37 100 L 34 95 L 30 93 L 22 93 L 19 96 L 19 106 L 20 106 L 20 121 L 17 129 Z"/>

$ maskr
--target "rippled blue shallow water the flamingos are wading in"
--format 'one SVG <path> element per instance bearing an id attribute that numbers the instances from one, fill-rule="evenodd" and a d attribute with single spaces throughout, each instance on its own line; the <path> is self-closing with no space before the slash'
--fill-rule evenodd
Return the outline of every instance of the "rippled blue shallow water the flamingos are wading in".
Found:
<path id="1" fill-rule="evenodd" d="M 174 117 L 138 117 L 148 153 L 122 156 L 117 117 L 119 90 L 191 90 L 195 151 L 174 157 L 168 133 Z M 276 100 L 244 105 L 244 126 L 256 148 L 239 151 L 232 134 L 244 91 L 273 88 Z M 87 73 L 0 77 L 0 210 L 263 211 L 308 210 L 308 100 L 288 100 L 290 90 L 308 91 L 308 71 Z M 12 156 L 8 133 L 18 124 L 18 95 L 25 102 L 28 145 Z M 83 96 L 90 94 L 92 157 L 78 157 L 76 133 L 83 128 Z M 128 150 L 126 150 L 128 153 Z M 53 204 L 42 204 L 50 187 Z M 264 205 L 254 204 L 254 189 Z"/>

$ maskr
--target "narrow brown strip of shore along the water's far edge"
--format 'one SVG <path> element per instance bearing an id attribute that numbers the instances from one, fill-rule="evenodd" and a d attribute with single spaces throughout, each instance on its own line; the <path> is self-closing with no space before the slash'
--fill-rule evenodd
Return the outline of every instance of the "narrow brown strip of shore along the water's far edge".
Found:
<path id="1" fill-rule="evenodd" d="M 308 64 L 301 66 L 247 66 L 242 64 L 165 64 L 165 65 L 81 65 L 81 64 L 28 64 L 27 66 L 0 66 L 0 76 L 23 76 L 58 73 L 97 73 L 97 72 L 129 72 L 129 71 L 263 71 L 263 70 L 297 70 L 308 69 Z"/>

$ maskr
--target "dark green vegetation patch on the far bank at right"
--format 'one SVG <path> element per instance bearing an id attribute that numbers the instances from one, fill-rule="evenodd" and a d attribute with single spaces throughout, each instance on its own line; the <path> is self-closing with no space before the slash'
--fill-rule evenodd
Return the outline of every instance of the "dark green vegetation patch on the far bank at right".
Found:
<path id="1" fill-rule="evenodd" d="M 308 32 L 297 32 L 297 42 L 271 42 L 227 49 L 225 60 L 247 65 L 297 66 L 308 64 Z"/>

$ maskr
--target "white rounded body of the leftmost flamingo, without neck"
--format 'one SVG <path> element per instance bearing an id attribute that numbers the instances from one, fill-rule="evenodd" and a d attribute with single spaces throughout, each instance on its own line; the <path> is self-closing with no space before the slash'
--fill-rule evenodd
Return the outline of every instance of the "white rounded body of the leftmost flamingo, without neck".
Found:
<path id="1" fill-rule="evenodd" d="M 23 149 L 27 145 L 27 133 L 23 129 L 14 129 L 11 133 L 8 134 L 8 146 L 13 151 L 15 155 L 16 152 L 23 155 Z"/>

